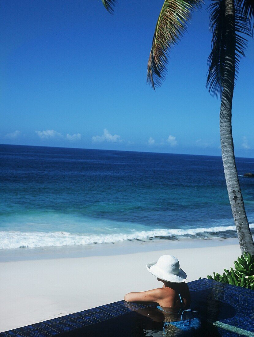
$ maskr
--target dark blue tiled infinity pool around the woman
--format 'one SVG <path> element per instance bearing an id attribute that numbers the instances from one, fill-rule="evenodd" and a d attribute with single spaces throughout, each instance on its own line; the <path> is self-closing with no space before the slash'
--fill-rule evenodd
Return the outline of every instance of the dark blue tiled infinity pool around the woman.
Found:
<path id="1" fill-rule="evenodd" d="M 192 304 L 201 319 L 193 333 L 165 329 L 153 303 L 119 301 L 0 333 L 0 337 L 207 336 L 254 337 L 254 291 L 200 279 L 188 282 Z"/>

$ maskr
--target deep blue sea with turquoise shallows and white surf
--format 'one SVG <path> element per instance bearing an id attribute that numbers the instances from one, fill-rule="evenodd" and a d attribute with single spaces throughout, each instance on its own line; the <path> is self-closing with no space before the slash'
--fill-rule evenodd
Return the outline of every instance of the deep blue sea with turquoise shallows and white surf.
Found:
<path id="1" fill-rule="evenodd" d="M 254 228 L 254 159 L 236 161 Z M 220 157 L 0 145 L 0 249 L 234 228 Z"/>

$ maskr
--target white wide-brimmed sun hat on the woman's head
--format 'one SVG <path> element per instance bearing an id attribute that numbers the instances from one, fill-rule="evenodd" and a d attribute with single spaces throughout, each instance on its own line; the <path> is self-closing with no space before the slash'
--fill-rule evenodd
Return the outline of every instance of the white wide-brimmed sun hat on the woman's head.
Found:
<path id="1" fill-rule="evenodd" d="M 179 261 L 173 255 L 162 255 L 157 262 L 147 264 L 149 273 L 161 280 L 173 283 L 185 282 L 187 280 L 187 275 L 179 267 Z"/>

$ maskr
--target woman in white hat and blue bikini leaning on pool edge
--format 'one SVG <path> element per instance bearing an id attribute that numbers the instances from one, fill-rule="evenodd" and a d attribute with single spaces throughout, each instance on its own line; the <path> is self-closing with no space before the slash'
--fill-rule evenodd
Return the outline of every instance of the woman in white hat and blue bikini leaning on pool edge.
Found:
<path id="1" fill-rule="evenodd" d="M 185 319 L 184 314 L 191 311 L 190 291 L 186 273 L 180 269 L 179 261 L 172 255 L 162 255 L 157 262 L 147 265 L 147 270 L 164 283 L 162 288 L 146 292 L 126 294 L 126 302 L 155 302 L 157 310 L 164 315 L 164 332 L 170 328 L 181 331 L 196 330 L 200 326 L 198 318 Z M 167 331 L 166 331 L 167 330 Z"/>

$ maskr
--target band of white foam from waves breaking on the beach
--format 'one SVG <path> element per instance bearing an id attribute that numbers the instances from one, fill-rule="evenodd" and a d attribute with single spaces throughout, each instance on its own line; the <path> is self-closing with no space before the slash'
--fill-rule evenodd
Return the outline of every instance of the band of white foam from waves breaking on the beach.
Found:
<path id="1" fill-rule="evenodd" d="M 254 228 L 254 223 L 250 224 Z M 216 233 L 235 231 L 235 226 L 217 226 L 210 228 L 190 228 L 190 229 L 154 229 L 152 231 L 133 231 L 128 234 L 107 234 L 107 235 L 83 235 L 68 232 L 19 232 L 0 231 L 0 249 L 22 248 L 22 247 L 52 247 L 52 246 L 73 246 L 88 245 L 91 243 L 107 243 L 133 239 L 148 239 L 154 237 L 170 237 L 196 235 L 202 233 Z"/>

